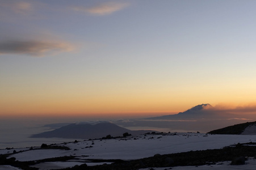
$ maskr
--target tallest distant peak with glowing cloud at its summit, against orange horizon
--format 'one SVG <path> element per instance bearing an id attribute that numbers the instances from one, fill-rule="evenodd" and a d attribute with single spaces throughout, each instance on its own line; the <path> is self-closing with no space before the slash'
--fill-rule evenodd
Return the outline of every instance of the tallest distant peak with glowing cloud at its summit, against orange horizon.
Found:
<path id="1" fill-rule="evenodd" d="M 198 119 L 198 118 L 231 118 L 236 117 L 231 113 L 219 113 L 215 110 L 211 104 L 200 104 L 188 109 L 185 112 L 179 112 L 178 114 L 169 114 L 165 116 L 146 118 L 149 120 L 186 120 L 186 119 Z"/>

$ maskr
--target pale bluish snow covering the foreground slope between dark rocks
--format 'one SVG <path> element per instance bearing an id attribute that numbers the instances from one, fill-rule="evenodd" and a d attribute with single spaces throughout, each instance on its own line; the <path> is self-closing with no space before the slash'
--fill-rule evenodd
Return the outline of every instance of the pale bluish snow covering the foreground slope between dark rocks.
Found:
<path id="1" fill-rule="evenodd" d="M 40 169 L 57 169 L 64 167 L 73 167 L 88 163 L 86 159 L 140 159 L 155 154 L 172 154 L 177 152 L 187 152 L 195 150 L 207 150 L 214 148 L 223 148 L 225 146 L 256 142 L 254 135 L 205 135 L 198 133 L 177 133 L 178 135 L 140 135 L 137 137 L 104 139 L 93 141 L 80 141 L 78 143 L 62 143 L 58 146 L 69 147 L 70 150 L 30 150 L 30 148 L 19 148 L 10 150 L 0 150 L 0 154 L 12 153 L 15 151 L 25 150 L 10 157 L 19 161 L 41 160 L 46 158 L 54 158 L 60 156 L 75 156 L 74 160 L 69 162 L 51 162 L 36 164 L 35 167 Z M 253 159 L 246 161 L 246 165 L 229 165 L 228 162 L 216 165 L 204 165 L 196 167 L 196 169 L 214 169 L 218 167 L 238 168 L 242 169 L 254 167 L 256 162 Z M 1 168 L 1 167 L 0 167 Z M 184 169 L 185 167 L 174 167 L 173 169 Z M 186 167 L 193 169 L 195 167 Z M 156 168 L 157 169 L 157 168 Z M 161 169 L 161 168 L 158 168 Z M 165 168 L 162 168 L 165 169 Z M 9 170 L 9 169 L 8 169 Z"/>

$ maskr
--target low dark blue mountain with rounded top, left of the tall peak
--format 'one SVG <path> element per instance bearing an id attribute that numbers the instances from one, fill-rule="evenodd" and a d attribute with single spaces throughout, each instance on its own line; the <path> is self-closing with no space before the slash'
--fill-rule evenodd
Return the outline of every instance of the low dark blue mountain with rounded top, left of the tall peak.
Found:
<path id="1" fill-rule="evenodd" d="M 150 130 L 128 130 L 111 123 L 90 124 L 70 124 L 61 128 L 34 134 L 32 138 L 79 138 L 95 139 L 111 135 L 112 137 L 123 136 L 124 133 L 132 135 L 144 134 Z"/>

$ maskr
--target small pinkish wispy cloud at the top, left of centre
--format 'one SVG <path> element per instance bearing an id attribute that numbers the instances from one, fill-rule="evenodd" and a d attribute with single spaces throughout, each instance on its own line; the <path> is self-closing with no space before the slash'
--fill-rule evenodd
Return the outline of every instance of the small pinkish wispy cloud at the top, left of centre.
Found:
<path id="1" fill-rule="evenodd" d="M 129 6 L 128 3 L 121 2 L 107 2 L 100 3 L 99 5 L 87 8 L 87 7 L 73 7 L 75 11 L 88 12 L 93 15 L 108 15 L 113 12 L 122 10 L 123 8 Z"/>

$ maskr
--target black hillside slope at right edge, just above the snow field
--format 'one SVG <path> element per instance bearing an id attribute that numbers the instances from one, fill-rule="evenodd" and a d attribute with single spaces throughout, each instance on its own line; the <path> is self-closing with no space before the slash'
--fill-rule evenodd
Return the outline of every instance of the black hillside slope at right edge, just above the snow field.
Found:
<path id="1" fill-rule="evenodd" d="M 209 134 L 243 134 L 245 130 L 249 130 L 249 133 L 246 133 L 247 135 L 255 134 L 256 133 L 256 122 L 246 122 L 244 124 L 237 124 L 233 126 L 228 126 L 226 128 L 216 129 L 209 131 Z"/>

